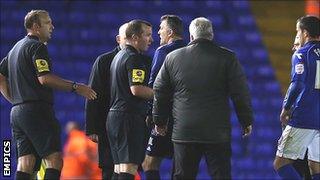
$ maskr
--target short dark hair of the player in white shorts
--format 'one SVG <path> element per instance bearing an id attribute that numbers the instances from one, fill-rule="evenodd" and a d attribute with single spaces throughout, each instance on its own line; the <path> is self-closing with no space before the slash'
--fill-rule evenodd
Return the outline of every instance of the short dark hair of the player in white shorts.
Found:
<path id="1" fill-rule="evenodd" d="M 316 38 L 320 36 L 320 19 L 315 16 L 303 16 L 297 20 L 299 23 L 299 28 L 301 30 L 306 30 L 309 33 L 309 36 Z"/>

